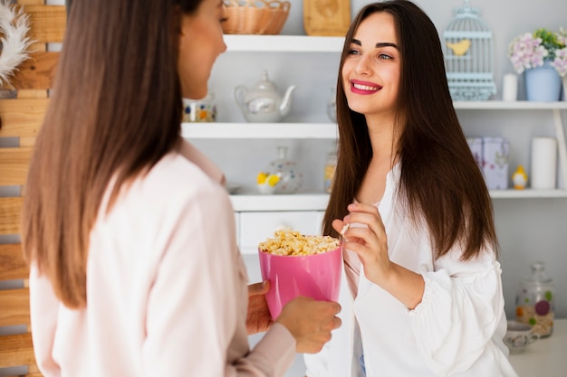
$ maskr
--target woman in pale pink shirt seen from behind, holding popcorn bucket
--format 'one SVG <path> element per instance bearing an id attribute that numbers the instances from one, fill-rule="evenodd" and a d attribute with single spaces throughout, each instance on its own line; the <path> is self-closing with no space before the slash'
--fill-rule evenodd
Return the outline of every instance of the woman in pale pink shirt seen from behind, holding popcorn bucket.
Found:
<path id="1" fill-rule="evenodd" d="M 73 1 L 24 198 L 46 377 L 282 376 L 340 325 L 304 297 L 271 325 L 255 295 L 247 316 L 224 175 L 180 137 L 223 17 L 221 0 Z M 270 327 L 253 350 L 246 325 Z"/>

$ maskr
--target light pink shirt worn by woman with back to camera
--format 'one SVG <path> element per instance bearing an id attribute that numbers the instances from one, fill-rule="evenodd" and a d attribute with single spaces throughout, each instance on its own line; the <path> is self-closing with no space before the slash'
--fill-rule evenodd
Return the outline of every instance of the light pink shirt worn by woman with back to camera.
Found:
<path id="1" fill-rule="evenodd" d="M 63 306 L 32 266 L 37 363 L 45 377 L 283 376 L 295 341 L 274 325 L 251 351 L 247 275 L 224 175 L 183 143 L 101 206 L 88 305 Z"/>

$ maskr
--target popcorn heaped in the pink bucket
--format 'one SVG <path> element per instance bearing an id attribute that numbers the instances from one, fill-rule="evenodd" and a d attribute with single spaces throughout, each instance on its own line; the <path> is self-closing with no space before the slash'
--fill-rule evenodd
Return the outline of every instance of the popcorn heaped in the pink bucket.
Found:
<path id="1" fill-rule="evenodd" d="M 313 255 L 335 250 L 341 242 L 331 236 L 305 236 L 299 231 L 274 231 L 274 238 L 260 242 L 258 249 L 274 255 Z"/>

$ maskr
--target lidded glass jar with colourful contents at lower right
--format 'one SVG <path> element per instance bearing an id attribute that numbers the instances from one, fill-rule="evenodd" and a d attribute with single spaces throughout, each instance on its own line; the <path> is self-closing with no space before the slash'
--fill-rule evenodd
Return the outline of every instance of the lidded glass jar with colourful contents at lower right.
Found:
<path id="1" fill-rule="evenodd" d="M 516 296 L 516 319 L 532 325 L 534 334 L 547 337 L 553 333 L 555 289 L 545 273 L 543 262 L 532 264 L 532 275 L 520 283 Z"/>

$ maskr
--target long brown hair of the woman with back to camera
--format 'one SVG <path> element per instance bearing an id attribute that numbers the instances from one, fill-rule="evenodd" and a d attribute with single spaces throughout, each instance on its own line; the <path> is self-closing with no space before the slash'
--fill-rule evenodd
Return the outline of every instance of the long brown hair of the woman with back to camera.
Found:
<path id="1" fill-rule="evenodd" d="M 74 1 L 22 218 L 28 261 L 66 306 L 86 305 L 89 235 L 111 201 L 180 140 L 181 12 L 201 0 Z"/>

